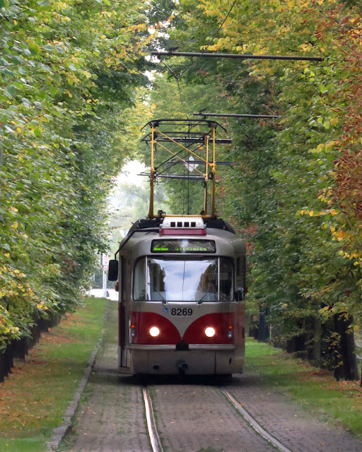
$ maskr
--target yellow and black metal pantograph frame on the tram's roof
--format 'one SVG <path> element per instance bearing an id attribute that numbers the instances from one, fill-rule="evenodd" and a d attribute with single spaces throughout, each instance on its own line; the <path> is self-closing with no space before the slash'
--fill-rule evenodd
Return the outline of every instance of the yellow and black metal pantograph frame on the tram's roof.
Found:
<path id="1" fill-rule="evenodd" d="M 160 130 L 160 126 L 185 126 L 187 130 Z M 153 203 L 154 203 L 154 186 L 156 179 L 158 177 L 168 178 L 168 179 L 191 179 L 191 180 L 202 180 L 204 182 L 204 208 L 202 210 L 202 218 L 216 218 L 216 205 L 215 205 L 215 179 L 216 179 L 216 165 L 232 165 L 232 162 L 216 162 L 216 144 L 218 143 L 231 143 L 230 139 L 217 139 L 216 129 L 219 126 L 221 129 L 226 131 L 226 129 L 218 124 L 216 121 L 205 120 L 205 119 L 156 119 L 149 121 L 146 126 L 151 127 L 151 132 L 148 133 L 141 141 L 144 143 L 151 144 L 151 172 L 143 173 L 143 175 L 148 176 L 150 179 L 150 206 L 148 211 L 148 218 L 156 218 Z M 146 127 L 144 126 L 144 128 Z M 192 131 L 196 126 L 207 127 L 206 131 Z M 143 128 L 143 129 L 144 129 Z M 171 129 L 171 127 L 170 127 Z M 180 148 L 179 152 L 171 150 L 168 144 L 173 144 L 177 150 Z M 187 147 L 189 143 L 189 147 Z M 190 146 L 200 143 L 200 146 L 196 149 L 191 149 Z M 185 145 L 184 145 L 185 144 Z M 204 148 L 204 157 L 200 155 L 199 149 Z M 155 165 L 155 155 L 157 148 L 161 148 L 166 152 L 170 153 L 171 157 L 161 162 L 157 167 Z M 187 159 L 180 157 L 180 153 L 186 152 L 189 157 Z M 190 157 L 196 160 L 190 160 Z M 168 167 L 159 171 L 160 167 L 163 167 L 168 163 Z M 175 173 L 165 173 L 171 167 L 182 163 L 185 167 L 192 167 L 192 169 L 198 173 L 198 175 L 185 174 L 175 174 Z M 192 165 L 202 165 L 204 171 L 197 169 Z M 209 213 L 208 208 L 208 186 L 209 180 L 211 179 L 211 212 Z M 177 216 L 177 215 L 175 215 Z M 178 215 L 180 216 L 180 215 Z M 185 215 L 182 215 L 185 216 Z"/>

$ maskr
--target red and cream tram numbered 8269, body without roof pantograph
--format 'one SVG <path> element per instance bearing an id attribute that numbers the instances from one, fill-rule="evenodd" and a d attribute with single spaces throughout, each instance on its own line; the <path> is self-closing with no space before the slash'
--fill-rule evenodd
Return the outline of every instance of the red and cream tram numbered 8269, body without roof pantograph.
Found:
<path id="1" fill-rule="evenodd" d="M 108 278 L 119 281 L 120 371 L 243 371 L 245 244 L 226 222 L 139 220 L 110 261 Z"/>

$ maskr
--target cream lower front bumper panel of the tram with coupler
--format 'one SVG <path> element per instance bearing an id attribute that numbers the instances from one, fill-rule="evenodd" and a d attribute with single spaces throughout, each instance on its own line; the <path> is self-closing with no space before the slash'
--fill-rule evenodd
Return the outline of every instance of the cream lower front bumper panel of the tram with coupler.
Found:
<path id="1" fill-rule="evenodd" d="M 243 371 L 234 350 L 132 350 L 134 374 L 221 375 Z"/>

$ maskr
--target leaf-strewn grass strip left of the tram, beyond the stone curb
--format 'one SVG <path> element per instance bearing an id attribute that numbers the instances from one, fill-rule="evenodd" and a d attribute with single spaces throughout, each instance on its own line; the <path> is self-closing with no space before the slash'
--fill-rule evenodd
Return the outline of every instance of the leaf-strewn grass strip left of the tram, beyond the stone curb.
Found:
<path id="1" fill-rule="evenodd" d="M 42 333 L 0 383 L 0 451 L 42 452 L 72 400 L 103 327 L 106 299 L 87 298 Z"/>

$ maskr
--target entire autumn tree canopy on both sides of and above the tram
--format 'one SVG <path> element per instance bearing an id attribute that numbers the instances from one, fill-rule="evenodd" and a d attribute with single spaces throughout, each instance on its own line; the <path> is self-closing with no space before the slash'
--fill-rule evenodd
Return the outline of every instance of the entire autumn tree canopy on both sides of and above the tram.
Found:
<path id="1" fill-rule="evenodd" d="M 233 145 L 218 158 L 235 166 L 218 213 L 247 239 L 249 306 L 285 335 L 309 328 L 316 358 L 322 335 L 326 350 L 338 339 L 330 319 L 361 319 L 358 2 L 0 0 L 0 20 L 0 347 L 78 297 L 139 126 L 205 107 L 281 114 L 223 120 Z M 167 59 L 147 94 L 150 42 L 323 61 Z M 197 188 L 168 185 L 174 213 L 198 210 Z"/>

